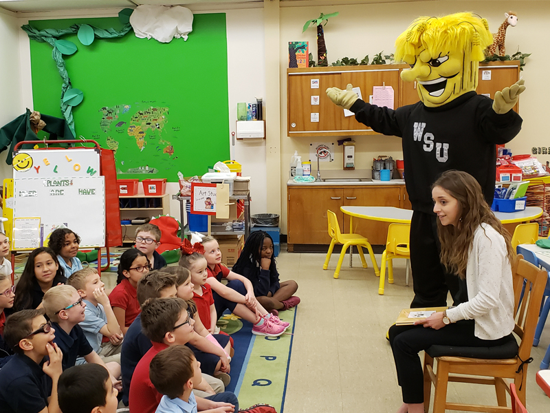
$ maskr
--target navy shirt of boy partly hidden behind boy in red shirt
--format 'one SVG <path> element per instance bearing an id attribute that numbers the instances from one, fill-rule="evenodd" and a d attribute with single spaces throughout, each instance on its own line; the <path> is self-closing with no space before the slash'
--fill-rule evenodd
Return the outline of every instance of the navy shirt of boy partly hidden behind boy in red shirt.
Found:
<path id="1" fill-rule="evenodd" d="M 156 258 L 155 258 L 156 261 Z M 122 403 L 128 405 L 130 381 L 133 370 L 148 350 L 153 347 L 151 340 L 142 332 L 142 315 L 137 315 L 129 326 L 122 341 L 122 353 L 120 354 L 120 370 L 122 371 Z"/>

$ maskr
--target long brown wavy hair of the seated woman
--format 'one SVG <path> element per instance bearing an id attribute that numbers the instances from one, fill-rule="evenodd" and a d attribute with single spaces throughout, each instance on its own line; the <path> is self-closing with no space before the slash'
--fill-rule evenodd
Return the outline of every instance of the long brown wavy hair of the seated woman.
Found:
<path id="1" fill-rule="evenodd" d="M 452 198 L 459 202 L 459 223 L 457 226 L 441 225 L 437 220 L 437 233 L 441 242 L 441 264 L 447 271 L 462 279 L 466 277 L 468 253 L 474 242 L 474 232 L 481 224 L 489 224 L 504 237 L 509 262 L 514 258 L 510 233 L 494 216 L 483 198 L 481 186 L 469 173 L 463 171 L 446 171 L 434 182 L 434 187 L 441 187 Z"/>

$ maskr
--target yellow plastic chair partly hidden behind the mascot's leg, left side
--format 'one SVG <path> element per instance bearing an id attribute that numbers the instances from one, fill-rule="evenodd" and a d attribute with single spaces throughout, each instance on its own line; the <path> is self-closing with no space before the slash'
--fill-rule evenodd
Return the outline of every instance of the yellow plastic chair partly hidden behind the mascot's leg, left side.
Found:
<path id="1" fill-rule="evenodd" d="M 378 294 L 384 295 L 384 278 L 386 277 L 386 261 L 388 262 L 388 283 L 393 284 L 393 263 L 394 258 L 410 259 L 409 248 L 410 224 L 390 224 L 388 227 L 388 239 L 386 249 L 382 253 L 380 263 L 380 284 Z M 407 261 L 407 282 L 408 285 L 408 261 Z"/>

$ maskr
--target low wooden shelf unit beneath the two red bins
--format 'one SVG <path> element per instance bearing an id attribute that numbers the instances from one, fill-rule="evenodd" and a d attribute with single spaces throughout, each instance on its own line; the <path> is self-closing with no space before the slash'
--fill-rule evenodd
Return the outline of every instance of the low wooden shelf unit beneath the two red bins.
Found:
<path id="1" fill-rule="evenodd" d="M 120 207 L 120 220 L 133 220 L 135 218 L 153 218 L 158 215 L 170 213 L 168 205 L 169 195 L 131 195 L 118 196 Z M 135 242 L 135 230 L 141 224 L 122 225 L 122 243 L 133 244 Z"/>

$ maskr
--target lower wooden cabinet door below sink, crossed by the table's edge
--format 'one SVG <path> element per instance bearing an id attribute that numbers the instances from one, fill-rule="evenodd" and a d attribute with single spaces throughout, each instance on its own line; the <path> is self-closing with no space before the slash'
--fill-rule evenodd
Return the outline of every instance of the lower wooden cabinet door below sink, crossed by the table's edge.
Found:
<path id="1" fill-rule="evenodd" d="M 361 207 L 400 207 L 401 186 L 368 187 L 343 190 L 343 205 Z M 344 215 L 344 231 L 363 235 L 373 245 L 386 244 L 390 222 L 353 218 L 353 229 L 349 226 L 349 215 Z M 352 230 L 352 231 L 350 231 Z"/>

